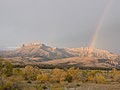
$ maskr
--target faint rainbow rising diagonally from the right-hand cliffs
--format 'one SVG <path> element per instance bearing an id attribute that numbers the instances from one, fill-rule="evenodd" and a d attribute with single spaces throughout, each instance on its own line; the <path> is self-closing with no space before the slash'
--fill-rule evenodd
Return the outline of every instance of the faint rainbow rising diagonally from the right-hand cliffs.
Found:
<path id="1" fill-rule="evenodd" d="M 102 25 L 103 25 L 103 23 L 105 21 L 105 18 L 107 17 L 107 14 L 108 14 L 108 12 L 109 12 L 109 10 L 111 8 L 112 1 L 113 0 L 109 0 L 106 7 L 105 7 L 105 9 L 103 10 L 101 18 L 98 21 L 98 24 L 96 25 L 96 29 L 95 29 L 94 34 L 92 35 L 91 41 L 90 41 L 90 43 L 88 45 L 88 47 L 90 47 L 90 48 L 95 47 L 95 43 L 96 43 L 99 31 L 101 30 L 101 27 L 102 27 Z"/>

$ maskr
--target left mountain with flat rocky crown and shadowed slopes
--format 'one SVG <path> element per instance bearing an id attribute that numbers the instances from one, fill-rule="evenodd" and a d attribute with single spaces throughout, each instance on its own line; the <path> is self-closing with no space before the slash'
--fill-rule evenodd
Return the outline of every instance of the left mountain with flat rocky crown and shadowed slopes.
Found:
<path id="1" fill-rule="evenodd" d="M 52 48 L 40 43 L 23 44 L 20 48 L 3 52 L 4 57 L 42 57 L 46 59 L 58 59 L 73 57 L 74 55 L 64 49 Z"/>

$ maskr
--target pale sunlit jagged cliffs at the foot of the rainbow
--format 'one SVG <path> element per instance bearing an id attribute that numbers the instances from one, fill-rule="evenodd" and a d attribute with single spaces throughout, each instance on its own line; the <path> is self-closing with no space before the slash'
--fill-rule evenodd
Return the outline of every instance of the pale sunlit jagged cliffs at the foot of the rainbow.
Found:
<path id="1" fill-rule="evenodd" d="M 96 57 L 99 59 L 115 59 L 117 57 L 116 54 L 110 53 L 106 50 L 100 50 L 90 47 L 66 48 L 65 50 L 76 56 Z"/>

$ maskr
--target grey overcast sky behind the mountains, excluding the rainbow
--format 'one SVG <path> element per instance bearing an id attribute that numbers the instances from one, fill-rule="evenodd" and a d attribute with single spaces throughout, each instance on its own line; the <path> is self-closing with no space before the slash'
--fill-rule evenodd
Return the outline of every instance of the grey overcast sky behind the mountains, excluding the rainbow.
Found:
<path id="1" fill-rule="evenodd" d="M 0 0 L 0 47 L 42 42 L 86 47 L 110 0 Z M 113 0 L 95 48 L 120 53 L 120 0 Z"/>

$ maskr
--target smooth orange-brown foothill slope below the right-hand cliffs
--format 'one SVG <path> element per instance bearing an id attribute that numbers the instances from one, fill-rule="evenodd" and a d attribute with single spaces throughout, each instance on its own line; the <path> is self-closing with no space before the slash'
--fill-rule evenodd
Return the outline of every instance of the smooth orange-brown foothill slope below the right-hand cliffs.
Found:
<path id="1" fill-rule="evenodd" d="M 82 67 L 120 67 L 120 61 L 110 59 L 98 59 L 93 57 L 72 57 L 40 62 L 48 65 L 79 65 Z"/>

